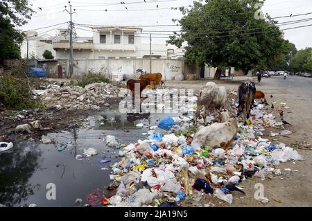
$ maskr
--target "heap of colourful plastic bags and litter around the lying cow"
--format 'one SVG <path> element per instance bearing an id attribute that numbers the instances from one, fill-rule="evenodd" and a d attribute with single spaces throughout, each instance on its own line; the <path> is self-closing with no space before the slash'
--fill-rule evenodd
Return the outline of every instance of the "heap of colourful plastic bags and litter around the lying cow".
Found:
<path id="1" fill-rule="evenodd" d="M 233 195 L 245 194 L 245 179 L 281 175 L 279 163 L 302 160 L 302 156 L 284 143 L 263 138 L 266 127 L 283 129 L 283 125 L 264 105 L 256 105 L 251 120 L 239 123 L 239 133 L 229 148 L 192 146 L 196 136 L 190 134 L 192 116 L 164 118 L 157 128 L 150 127 L 154 133 L 148 133 L 144 141 L 123 148 L 114 137 L 108 137 L 107 143 L 118 148 L 123 158 L 111 165 L 112 184 L 98 202 L 103 206 L 210 206 L 204 198 L 214 197 L 232 204 Z M 234 112 L 236 107 L 237 100 L 232 99 Z M 266 197 L 260 200 L 269 201 Z"/>

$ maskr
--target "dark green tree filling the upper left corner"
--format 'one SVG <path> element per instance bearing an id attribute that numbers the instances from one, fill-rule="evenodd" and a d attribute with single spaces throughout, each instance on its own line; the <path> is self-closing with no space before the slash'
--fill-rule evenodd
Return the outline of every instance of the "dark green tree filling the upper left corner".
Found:
<path id="1" fill-rule="evenodd" d="M 32 12 L 28 0 L 0 1 L 0 63 L 20 57 L 19 46 L 24 36 L 17 27 L 26 24 Z"/>

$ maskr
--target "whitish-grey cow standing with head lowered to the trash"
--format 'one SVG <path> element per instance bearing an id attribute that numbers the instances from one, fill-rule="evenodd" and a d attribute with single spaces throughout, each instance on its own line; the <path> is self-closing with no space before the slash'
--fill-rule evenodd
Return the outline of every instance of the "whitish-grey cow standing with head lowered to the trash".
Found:
<path id="1" fill-rule="evenodd" d="M 208 82 L 207 85 L 200 91 L 197 101 L 197 110 L 194 118 L 196 123 L 197 118 L 200 116 L 200 109 L 204 106 L 204 123 L 206 125 L 206 117 L 209 112 L 214 109 L 225 107 L 227 102 L 227 90 L 225 87 L 218 87 L 214 82 Z"/>

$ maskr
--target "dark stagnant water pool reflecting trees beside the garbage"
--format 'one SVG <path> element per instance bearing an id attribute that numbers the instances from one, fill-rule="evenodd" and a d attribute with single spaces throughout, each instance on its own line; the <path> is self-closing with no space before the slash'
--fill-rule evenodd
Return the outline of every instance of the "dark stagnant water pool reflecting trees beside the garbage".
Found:
<path id="1" fill-rule="evenodd" d="M 103 142 L 105 136 L 114 135 L 119 143 L 128 145 L 138 139 L 146 139 L 142 133 L 148 127 L 138 128 L 138 123 L 157 125 L 165 116 L 178 114 L 145 114 L 133 116 L 118 111 L 98 112 L 89 116 L 85 127 L 76 130 L 51 133 L 42 137 L 55 139 L 55 144 L 39 141 L 15 140 L 14 148 L 1 152 L 0 157 L 0 204 L 6 206 L 76 206 L 77 198 L 87 204 L 86 197 L 96 188 L 110 184 L 110 164 L 120 161 L 116 148 L 109 148 Z M 102 123 L 98 117 L 102 116 Z M 113 119 L 113 121 L 112 121 Z M 103 124 L 104 123 L 104 124 Z M 62 152 L 60 145 L 67 145 Z M 93 157 L 76 159 L 83 149 L 94 148 L 98 154 Z M 101 165 L 99 160 L 110 158 L 111 162 Z M 55 184 L 56 200 L 48 200 L 46 194 Z"/>

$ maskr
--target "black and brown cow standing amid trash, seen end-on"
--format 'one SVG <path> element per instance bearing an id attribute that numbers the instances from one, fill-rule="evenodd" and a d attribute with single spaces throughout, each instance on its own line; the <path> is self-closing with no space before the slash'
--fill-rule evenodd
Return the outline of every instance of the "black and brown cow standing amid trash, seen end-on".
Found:
<path id="1" fill-rule="evenodd" d="M 237 116 L 245 110 L 246 118 L 250 117 L 250 109 L 254 105 L 255 96 L 256 86 L 254 82 L 244 82 L 239 86 L 239 112 Z"/>

